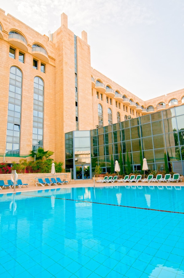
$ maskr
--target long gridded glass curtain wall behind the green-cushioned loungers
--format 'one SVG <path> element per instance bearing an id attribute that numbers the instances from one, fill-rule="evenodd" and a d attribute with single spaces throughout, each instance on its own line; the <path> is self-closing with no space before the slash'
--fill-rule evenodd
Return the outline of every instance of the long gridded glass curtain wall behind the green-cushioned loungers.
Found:
<path id="1" fill-rule="evenodd" d="M 111 156 L 126 171 L 127 156 L 132 172 L 141 170 L 140 155 L 149 170 L 184 174 L 184 106 L 163 110 L 90 131 L 92 173 L 96 165 L 110 172 Z M 167 162 L 165 161 L 165 154 Z"/>

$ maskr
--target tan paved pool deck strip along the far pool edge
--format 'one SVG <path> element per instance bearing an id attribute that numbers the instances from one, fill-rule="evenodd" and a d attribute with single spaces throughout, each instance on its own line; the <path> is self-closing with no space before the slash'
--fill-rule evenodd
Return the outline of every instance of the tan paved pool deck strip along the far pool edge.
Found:
<path id="1" fill-rule="evenodd" d="M 114 182 L 114 183 L 97 183 L 94 180 L 71 180 L 69 183 L 64 185 L 51 185 L 51 186 L 35 186 L 35 185 L 29 185 L 29 187 L 22 187 L 15 189 L 15 192 L 23 192 L 23 191 L 35 191 L 40 189 L 54 189 L 54 188 L 72 188 L 72 187 L 103 187 L 103 186 L 125 186 L 125 185 L 142 185 L 142 186 L 184 186 L 184 181 L 182 182 Z M 10 193 L 14 192 L 13 189 L 5 188 L 0 190 L 0 194 L 2 193 Z"/>

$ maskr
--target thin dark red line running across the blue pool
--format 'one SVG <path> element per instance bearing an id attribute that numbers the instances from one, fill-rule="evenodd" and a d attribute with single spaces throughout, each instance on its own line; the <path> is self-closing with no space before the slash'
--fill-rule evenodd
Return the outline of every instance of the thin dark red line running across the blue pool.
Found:
<path id="1" fill-rule="evenodd" d="M 31 197 L 51 198 L 51 196 L 50 197 L 49 196 L 35 196 L 35 195 L 27 195 L 27 194 L 21 194 L 21 195 L 31 196 Z M 99 203 L 99 202 L 92 202 L 92 201 L 82 201 L 82 200 L 74 200 L 74 199 L 66 199 L 66 198 L 58 198 L 58 197 L 55 197 L 55 199 L 66 200 L 66 201 L 76 201 L 76 202 L 83 202 L 83 203 L 91 203 L 91 204 L 99 204 L 99 205 L 113 205 L 113 206 L 119 206 L 119 207 L 123 207 L 123 208 L 132 208 L 132 209 L 140 209 L 140 210 L 154 210 L 154 211 L 161 211 L 161 212 L 171 212 L 171 213 L 184 214 L 184 212 L 179 212 L 179 211 L 156 210 L 156 209 L 140 208 L 140 207 L 134 207 L 134 206 L 128 206 L 128 205 L 106 204 L 106 203 Z"/>

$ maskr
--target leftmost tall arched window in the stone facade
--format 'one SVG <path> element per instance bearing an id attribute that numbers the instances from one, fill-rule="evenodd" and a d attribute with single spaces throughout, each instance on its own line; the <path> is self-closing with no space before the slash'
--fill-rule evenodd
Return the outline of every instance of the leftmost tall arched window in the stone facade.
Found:
<path id="1" fill-rule="evenodd" d="M 19 156 L 21 123 L 22 72 L 10 68 L 6 155 Z"/>

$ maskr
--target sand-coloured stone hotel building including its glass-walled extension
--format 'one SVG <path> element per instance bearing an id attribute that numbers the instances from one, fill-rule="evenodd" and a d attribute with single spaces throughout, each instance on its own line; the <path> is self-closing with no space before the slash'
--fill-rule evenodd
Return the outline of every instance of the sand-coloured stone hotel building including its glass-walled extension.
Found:
<path id="1" fill-rule="evenodd" d="M 74 179 L 90 179 L 127 156 L 140 170 L 184 174 L 184 89 L 148 101 L 91 67 L 87 33 L 41 35 L 0 9 L 0 162 L 19 162 L 31 150 L 54 151 Z M 27 157 L 29 160 L 30 158 Z"/>

